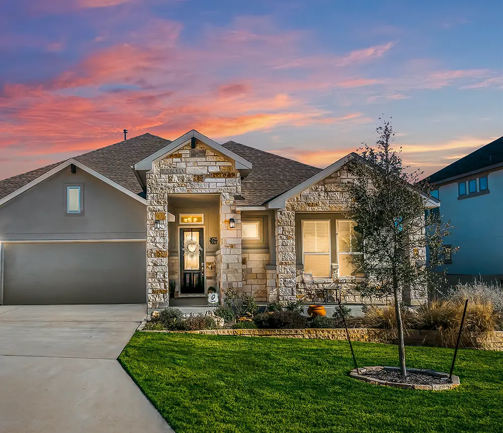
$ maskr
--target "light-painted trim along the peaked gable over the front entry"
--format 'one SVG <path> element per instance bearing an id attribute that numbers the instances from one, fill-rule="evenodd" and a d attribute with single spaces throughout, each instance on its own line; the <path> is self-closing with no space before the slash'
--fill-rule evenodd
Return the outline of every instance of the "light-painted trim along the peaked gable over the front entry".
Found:
<path id="1" fill-rule="evenodd" d="M 157 152 L 154 152 L 152 155 L 149 155 L 145 159 L 141 160 L 140 162 L 136 163 L 134 165 L 135 170 L 153 170 L 154 169 L 154 164 L 157 161 L 162 160 L 166 156 L 176 152 L 180 148 L 183 148 L 186 146 L 192 137 L 197 138 L 199 141 L 202 141 L 205 145 L 213 148 L 216 150 L 218 153 L 225 155 L 226 157 L 234 160 L 236 162 L 236 170 L 242 170 L 242 171 L 249 171 L 251 170 L 252 164 L 245 160 L 244 158 L 240 157 L 239 155 L 235 154 L 234 152 L 229 151 L 228 149 L 224 148 L 222 145 L 219 145 L 216 141 L 212 140 L 211 138 L 208 138 L 206 135 L 201 134 L 200 132 L 196 131 L 195 129 L 192 129 L 189 132 L 186 132 L 183 134 L 181 137 L 177 138 L 175 141 L 172 141 L 169 143 L 169 145 L 164 146 L 162 149 L 159 149 Z"/>

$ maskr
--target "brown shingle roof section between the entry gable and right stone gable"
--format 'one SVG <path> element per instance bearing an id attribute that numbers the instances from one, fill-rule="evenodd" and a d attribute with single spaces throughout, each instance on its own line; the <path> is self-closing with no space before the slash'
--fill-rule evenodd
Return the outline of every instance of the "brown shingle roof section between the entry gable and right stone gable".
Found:
<path id="1" fill-rule="evenodd" d="M 239 204 L 264 204 L 321 171 L 320 168 L 250 148 L 235 141 L 227 141 L 222 146 L 253 164 L 250 173 L 241 182 L 241 194 L 245 200 L 239 201 Z"/>

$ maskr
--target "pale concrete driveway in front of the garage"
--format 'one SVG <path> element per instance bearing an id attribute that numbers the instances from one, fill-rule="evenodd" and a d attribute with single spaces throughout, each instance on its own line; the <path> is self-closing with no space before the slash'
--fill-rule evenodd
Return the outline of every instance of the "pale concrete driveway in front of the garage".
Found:
<path id="1" fill-rule="evenodd" d="M 0 431 L 173 432 L 117 362 L 145 305 L 0 305 Z"/>

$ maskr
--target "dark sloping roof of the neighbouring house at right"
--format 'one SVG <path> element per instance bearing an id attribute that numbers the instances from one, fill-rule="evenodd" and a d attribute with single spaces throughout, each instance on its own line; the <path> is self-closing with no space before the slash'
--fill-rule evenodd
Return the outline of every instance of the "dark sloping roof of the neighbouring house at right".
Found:
<path id="1" fill-rule="evenodd" d="M 432 174 L 428 177 L 428 181 L 439 183 L 444 179 L 499 163 L 503 163 L 503 137 L 491 141 L 488 145 Z"/>

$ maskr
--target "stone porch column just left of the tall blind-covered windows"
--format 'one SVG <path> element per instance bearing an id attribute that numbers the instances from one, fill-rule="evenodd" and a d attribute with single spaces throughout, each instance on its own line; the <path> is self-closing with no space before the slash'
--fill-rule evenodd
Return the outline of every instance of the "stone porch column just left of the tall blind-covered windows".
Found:
<path id="1" fill-rule="evenodd" d="M 297 299 L 295 212 L 277 210 L 275 220 L 278 301 L 295 301 Z"/>

